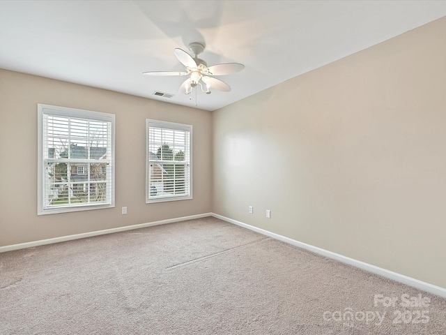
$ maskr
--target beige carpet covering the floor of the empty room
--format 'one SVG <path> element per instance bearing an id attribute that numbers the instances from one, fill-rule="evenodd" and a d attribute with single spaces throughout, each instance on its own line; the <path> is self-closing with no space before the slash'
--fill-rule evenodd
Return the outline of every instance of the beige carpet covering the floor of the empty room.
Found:
<path id="1" fill-rule="evenodd" d="M 444 335 L 446 299 L 202 218 L 0 253 L 0 334 Z"/>

